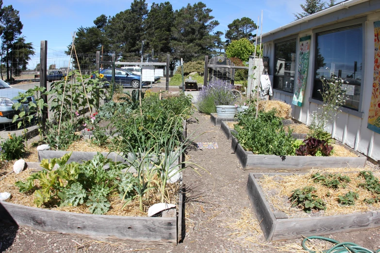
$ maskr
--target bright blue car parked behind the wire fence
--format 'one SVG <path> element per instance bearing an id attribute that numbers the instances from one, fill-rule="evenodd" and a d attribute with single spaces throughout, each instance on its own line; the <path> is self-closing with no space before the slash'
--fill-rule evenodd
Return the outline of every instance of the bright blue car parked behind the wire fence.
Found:
<path id="1" fill-rule="evenodd" d="M 104 69 L 100 71 L 100 74 L 103 74 L 104 77 L 107 79 L 107 81 L 111 82 L 112 81 L 112 69 Z M 91 75 L 91 79 L 95 79 L 95 75 Z M 121 68 L 116 68 L 115 69 L 115 83 L 123 85 L 123 87 L 130 87 L 136 89 L 140 87 L 140 76 L 134 75 L 132 72 L 126 70 L 126 69 L 121 69 Z M 149 85 L 148 82 L 143 82 L 142 86 Z"/>

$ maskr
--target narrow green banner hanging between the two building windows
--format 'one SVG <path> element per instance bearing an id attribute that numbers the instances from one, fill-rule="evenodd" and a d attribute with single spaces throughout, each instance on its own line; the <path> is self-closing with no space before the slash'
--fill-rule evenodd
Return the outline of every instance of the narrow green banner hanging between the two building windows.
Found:
<path id="1" fill-rule="evenodd" d="M 311 36 L 300 38 L 298 44 L 298 77 L 296 87 L 294 87 L 292 104 L 300 107 L 302 106 L 303 95 L 305 94 L 307 71 L 309 68 L 310 39 Z"/>

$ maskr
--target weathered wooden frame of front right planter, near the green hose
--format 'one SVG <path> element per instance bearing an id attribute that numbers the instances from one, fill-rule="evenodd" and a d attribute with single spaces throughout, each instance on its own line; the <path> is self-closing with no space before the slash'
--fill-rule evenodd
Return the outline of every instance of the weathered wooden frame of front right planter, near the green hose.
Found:
<path id="1" fill-rule="evenodd" d="M 281 241 L 380 227 L 378 211 L 294 219 L 287 218 L 285 213 L 274 213 L 256 181 L 262 175 L 249 173 L 247 192 L 266 240 Z"/>

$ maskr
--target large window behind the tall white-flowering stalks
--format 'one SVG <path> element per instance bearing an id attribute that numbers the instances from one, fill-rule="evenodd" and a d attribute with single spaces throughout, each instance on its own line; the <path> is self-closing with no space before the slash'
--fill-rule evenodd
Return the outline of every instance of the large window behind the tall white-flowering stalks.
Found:
<path id="1" fill-rule="evenodd" d="M 338 77 L 348 82 L 344 105 L 359 110 L 362 84 L 362 25 L 316 34 L 316 57 L 312 98 L 322 100 L 321 77 Z M 346 88 L 346 87 L 345 87 Z"/>

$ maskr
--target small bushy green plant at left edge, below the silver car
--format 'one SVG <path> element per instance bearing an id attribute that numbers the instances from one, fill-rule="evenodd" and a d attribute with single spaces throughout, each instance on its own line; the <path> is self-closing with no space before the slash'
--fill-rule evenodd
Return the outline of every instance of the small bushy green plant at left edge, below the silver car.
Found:
<path id="1" fill-rule="evenodd" d="M 0 159 L 1 160 L 14 160 L 21 158 L 25 152 L 24 140 L 22 136 L 16 134 L 8 134 L 8 139 L 1 142 Z"/>

